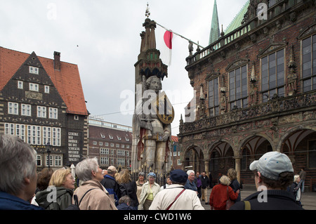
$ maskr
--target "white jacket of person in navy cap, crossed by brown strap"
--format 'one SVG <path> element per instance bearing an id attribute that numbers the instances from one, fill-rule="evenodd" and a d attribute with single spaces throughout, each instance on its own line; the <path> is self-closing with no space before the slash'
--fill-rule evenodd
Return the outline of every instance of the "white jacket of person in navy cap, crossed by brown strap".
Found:
<path id="1" fill-rule="evenodd" d="M 150 210 L 166 210 L 183 189 L 183 185 L 172 184 L 161 190 L 154 197 Z M 197 192 L 187 189 L 176 199 L 170 210 L 204 210 L 204 207 L 197 197 Z"/>

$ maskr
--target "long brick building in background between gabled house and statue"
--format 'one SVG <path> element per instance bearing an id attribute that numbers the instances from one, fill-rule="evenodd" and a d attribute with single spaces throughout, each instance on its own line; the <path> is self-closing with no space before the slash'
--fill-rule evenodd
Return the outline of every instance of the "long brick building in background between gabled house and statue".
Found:
<path id="1" fill-rule="evenodd" d="M 89 117 L 89 157 L 97 157 L 102 169 L 115 166 L 131 170 L 132 128 Z"/>

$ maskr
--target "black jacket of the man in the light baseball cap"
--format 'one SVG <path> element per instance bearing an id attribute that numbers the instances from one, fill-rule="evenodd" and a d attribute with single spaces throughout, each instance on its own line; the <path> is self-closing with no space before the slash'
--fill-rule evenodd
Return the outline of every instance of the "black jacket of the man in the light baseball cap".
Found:
<path id="1" fill-rule="evenodd" d="M 259 202 L 267 194 L 267 202 Z M 251 210 L 303 210 L 301 206 L 296 204 L 293 195 L 285 190 L 266 190 L 256 192 L 244 199 L 249 201 Z M 244 202 L 237 202 L 230 207 L 230 210 L 244 210 Z"/>

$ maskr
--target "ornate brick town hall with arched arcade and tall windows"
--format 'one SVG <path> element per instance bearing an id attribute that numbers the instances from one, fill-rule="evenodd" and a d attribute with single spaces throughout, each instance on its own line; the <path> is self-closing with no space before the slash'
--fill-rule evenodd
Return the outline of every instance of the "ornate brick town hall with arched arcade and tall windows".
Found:
<path id="1" fill-rule="evenodd" d="M 249 164 L 278 151 L 289 156 L 295 173 L 305 168 L 305 188 L 312 189 L 315 4 L 250 0 L 217 41 L 190 51 L 185 69 L 197 93 L 196 118 L 180 121 L 183 166 L 211 172 L 216 183 L 235 168 L 239 181 L 254 185 Z"/>

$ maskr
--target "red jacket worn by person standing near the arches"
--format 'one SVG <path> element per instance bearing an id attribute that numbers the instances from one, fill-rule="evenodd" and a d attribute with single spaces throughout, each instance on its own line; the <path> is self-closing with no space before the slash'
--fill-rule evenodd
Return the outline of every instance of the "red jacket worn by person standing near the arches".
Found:
<path id="1" fill-rule="evenodd" d="M 228 194 L 227 194 L 228 188 Z M 227 185 L 215 185 L 209 196 L 209 204 L 214 207 L 215 210 L 225 210 L 226 201 L 228 200 L 228 195 L 230 195 L 231 200 L 236 200 L 238 193 L 232 190 L 232 187 Z"/>

